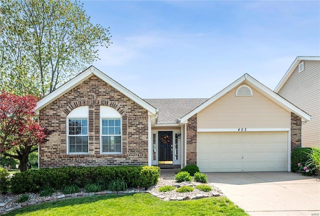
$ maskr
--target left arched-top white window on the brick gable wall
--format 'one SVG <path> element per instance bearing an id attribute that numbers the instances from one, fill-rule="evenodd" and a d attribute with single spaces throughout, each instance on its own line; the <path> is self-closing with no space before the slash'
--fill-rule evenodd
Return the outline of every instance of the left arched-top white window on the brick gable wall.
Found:
<path id="1" fill-rule="evenodd" d="M 73 109 L 66 119 L 67 153 L 88 154 L 88 106 Z"/>

